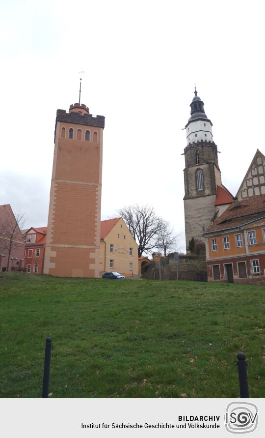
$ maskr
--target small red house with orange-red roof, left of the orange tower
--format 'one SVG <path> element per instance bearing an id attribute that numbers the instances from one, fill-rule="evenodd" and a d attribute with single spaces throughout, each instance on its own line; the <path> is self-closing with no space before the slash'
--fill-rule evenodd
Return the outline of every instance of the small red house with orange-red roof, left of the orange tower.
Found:
<path id="1" fill-rule="evenodd" d="M 25 234 L 24 259 L 29 274 L 43 273 L 46 234 L 47 227 L 31 227 Z"/>

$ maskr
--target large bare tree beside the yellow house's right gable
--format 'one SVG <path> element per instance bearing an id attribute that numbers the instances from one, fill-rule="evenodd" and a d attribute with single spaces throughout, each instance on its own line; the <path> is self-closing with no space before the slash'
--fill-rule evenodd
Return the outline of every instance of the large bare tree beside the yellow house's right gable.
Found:
<path id="1" fill-rule="evenodd" d="M 157 216 L 154 208 L 148 204 L 129 205 L 117 212 L 138 244 L 138 257 L 141 257 L 143 252 L 151 253 L 156 248 L 158 234 L 164 232 L 168 223 Z"/>

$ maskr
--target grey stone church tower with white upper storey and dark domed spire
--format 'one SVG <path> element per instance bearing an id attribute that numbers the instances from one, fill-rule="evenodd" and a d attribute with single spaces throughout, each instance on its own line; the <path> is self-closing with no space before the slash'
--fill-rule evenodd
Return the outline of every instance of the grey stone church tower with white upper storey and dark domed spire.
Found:
<path id="1" fill-rule="evenodd" d="M 196 87 L 194 94 L 190 117 L 185 125 L 187 146 L 184 149 L 184 210 L 187 250 L 192 237 L 204 240 L 202 233 L 210 227 L 218 212 L 217 190 L 221 195 L 227 195 L 221 196 L 221 204 L 224 204 L 224 198 L 228 204 L 232 202 L 232 195 L 222 186 L 217 146 L 212 137 L 212 122 L 205 114 L 204 102 L 197 95 Z"/>

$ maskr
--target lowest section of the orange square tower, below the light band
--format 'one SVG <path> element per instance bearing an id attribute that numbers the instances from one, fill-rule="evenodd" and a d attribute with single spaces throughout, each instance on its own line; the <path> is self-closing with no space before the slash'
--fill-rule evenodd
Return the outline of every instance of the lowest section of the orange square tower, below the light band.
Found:
<path id="1" fill-rule="evenodd" d="M 55 277 L 99 278 L 100 248 L 46 246 L 43 273 Z"/>

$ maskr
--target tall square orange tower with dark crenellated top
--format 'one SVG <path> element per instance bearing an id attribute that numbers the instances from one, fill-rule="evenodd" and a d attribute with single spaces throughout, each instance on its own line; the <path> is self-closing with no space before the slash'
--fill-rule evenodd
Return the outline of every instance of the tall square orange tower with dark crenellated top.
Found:
<path id="1" fill-rule="evenodd" d="M 105 117 L 57 110 L 44 273 L 98 277 Z"/>

